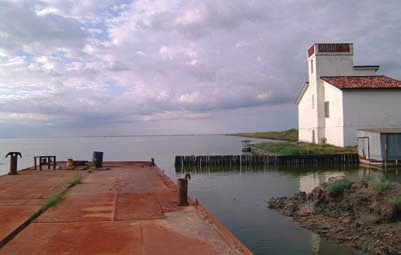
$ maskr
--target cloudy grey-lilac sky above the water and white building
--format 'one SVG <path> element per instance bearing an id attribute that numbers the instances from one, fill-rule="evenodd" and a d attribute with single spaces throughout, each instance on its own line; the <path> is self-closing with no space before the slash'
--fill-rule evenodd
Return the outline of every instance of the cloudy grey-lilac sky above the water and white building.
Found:
<path id="1" fill-rule="evenodd" d="M 401 1 L 0 0 L 0 137 L 297 127 L 316 42 L 401 79 Z"/>

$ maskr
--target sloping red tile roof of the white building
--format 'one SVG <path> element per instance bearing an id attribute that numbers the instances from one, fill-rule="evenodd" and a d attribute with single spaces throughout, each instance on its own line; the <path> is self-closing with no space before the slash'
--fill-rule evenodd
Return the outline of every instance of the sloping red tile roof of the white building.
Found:
<path id="1" fill-rule="evenodd" d="M 339 89 L 401 89 L 401 81 L 384 76 L 322 76 L 325 82 Z"/>

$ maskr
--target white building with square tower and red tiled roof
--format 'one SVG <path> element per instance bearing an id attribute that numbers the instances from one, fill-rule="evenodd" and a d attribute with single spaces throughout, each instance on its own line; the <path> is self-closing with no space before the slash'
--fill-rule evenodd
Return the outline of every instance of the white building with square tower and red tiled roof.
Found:
<path id="1" fill-rule="evenodd" d="M 298 106 L 299 140 L 357 144 L 357 129 L 401 127 L 401 81 L 354 66 L 352 43 L 317 43 L 308 50 L 307 82 Z"/>

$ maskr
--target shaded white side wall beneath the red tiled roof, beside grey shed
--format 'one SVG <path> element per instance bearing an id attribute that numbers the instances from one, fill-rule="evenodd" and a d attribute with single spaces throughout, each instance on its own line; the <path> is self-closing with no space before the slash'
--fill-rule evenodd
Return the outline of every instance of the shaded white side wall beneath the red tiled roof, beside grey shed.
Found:
<path id="1" fill-rule="evenodd" d="M 401 90 L 343 90 L 344 146 L 357 144 L 357 129 L 401 127 Z"/>

